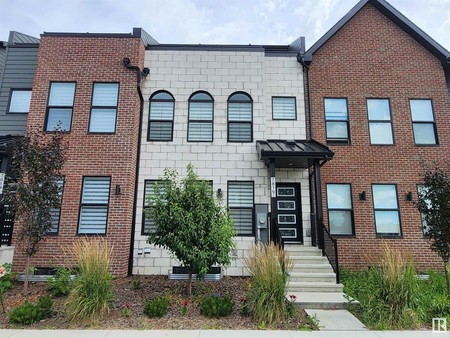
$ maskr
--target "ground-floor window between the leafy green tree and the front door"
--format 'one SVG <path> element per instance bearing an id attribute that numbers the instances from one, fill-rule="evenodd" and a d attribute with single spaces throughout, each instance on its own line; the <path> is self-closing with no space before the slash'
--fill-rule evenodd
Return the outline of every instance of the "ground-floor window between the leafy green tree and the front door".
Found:
<path id="1" fill-rule="evenodd" d="M 228 207 L 238 236 L 253 236 L 253 181 L 228 181 Z"/>

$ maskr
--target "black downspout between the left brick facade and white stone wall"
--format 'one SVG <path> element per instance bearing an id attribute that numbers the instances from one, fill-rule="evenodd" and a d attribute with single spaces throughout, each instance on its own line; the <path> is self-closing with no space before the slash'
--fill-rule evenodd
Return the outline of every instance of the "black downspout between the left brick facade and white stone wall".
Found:
<path id="1" fill-rule="evenodd" d="M 123 64 L 128 69 L 136 70 L 137 74 L 137 92 L 140 100 L 140 112 L 139 112 L 139 132 L 138 132 L 138 148 L 136 156 L 136 179 L 134 180 L 134 200 L 133 200 L 133 219 L 131 221 L 131 243 L 130 243 L 130 254 L 128 257 L 128 275 L 133 274 L 133 251 L 134 251 L 134 233 L 136 230 L 136 206 L 138 198 L 138 184 L 139 184 L 139 164 L 141 159 L 141 136 L 142 136 L 142 119 L 144 115 L 144 96 L 141 91 L 141 77 L 146 77 L 149 73 L 148 68 L 144 68 L 142 71 L 138 66 L 130 65 L 130 58 L 123 58 Z"/>

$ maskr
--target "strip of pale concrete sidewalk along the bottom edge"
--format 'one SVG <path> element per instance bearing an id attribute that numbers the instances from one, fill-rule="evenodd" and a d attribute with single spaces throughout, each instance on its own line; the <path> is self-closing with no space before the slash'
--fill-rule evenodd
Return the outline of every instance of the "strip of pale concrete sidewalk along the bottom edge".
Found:
<path id="1" fill-rule="evenodd" d="M 450 337 L 431 331 L 283 331 L 283 330 L 0 330 L 0 338 L 415 338 Z"/>

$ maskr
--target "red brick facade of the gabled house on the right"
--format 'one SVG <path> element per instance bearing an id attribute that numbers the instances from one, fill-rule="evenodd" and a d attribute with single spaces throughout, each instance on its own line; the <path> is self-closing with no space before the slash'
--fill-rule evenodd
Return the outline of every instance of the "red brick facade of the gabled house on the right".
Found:
<path id="1" fill-rule="evenodd" d="M 348 100 L 351 145 L 330 145 L 334 159 L 321 170 L 325 224 L 325 184 L 351 183 L 355 236 L 338 239 L 340 264 L 362 268 L 367 254 L 380 251 L 371 184 L 389 183 L 397 185 L 403 236 L 387 241 L 412 253 L 419 269 L 440 268 L 414 202 L 405 199 L 412 192 L 417 201 L 420 159 L 450 158 L 450 104 L 440 61 L 368 4 L 314 53 L 310 76 L 314 139 L 326 142 L 323 99 Z M 370 145 L 366 98 L 390 100 L 395 145 Z M 432 99 L 439 146 L 415 146 L 410 98 Z"/>

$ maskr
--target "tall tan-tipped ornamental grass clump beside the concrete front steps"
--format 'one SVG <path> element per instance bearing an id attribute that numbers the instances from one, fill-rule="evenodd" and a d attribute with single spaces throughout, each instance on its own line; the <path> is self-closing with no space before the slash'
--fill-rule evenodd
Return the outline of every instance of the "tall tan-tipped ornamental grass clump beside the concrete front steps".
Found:
<path id="1" fill-rule="evenodd" d="M 250 314 L 258 323 L 267 324 L 287 318 L 286 272 L 291 261 L 285 252 L 273 243 L 255 245 L 245 261 L 251 276 L 247 293 Z"/>

